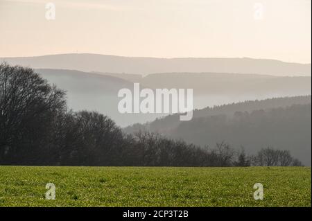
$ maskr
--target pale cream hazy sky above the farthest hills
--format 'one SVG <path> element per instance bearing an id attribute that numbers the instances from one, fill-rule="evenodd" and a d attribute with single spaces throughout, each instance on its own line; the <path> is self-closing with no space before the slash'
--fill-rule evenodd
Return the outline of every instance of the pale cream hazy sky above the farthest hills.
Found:
<path id="1" fill-rule="evenodd" d="M 57 53 L 311 63 L 311 1 L 0 0 L 0 57 Z"/>

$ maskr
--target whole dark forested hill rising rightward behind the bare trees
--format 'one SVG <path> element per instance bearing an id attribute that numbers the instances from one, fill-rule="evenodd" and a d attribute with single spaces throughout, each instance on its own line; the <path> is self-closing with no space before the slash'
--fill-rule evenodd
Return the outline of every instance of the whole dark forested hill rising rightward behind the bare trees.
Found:
<path id="1" fill-rule="evenodd" d="M 243 146 L 249 154 L 272 146 L 291 150 L 293 156 L 311 166 L 311 96 L 207 107 L 193 112 L 191 121 L 179 121 L 178 116 L 166 116 L 124 130 L 157 132 L 202 147 L 226 141 L 236 149 Z"/>

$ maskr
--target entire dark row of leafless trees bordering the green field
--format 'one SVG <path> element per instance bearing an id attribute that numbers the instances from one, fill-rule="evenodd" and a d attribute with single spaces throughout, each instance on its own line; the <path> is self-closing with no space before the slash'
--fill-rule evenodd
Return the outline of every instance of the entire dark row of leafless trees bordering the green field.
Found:
<path id="1" fill-rule="evenodd" d="M 73 112 L 65 91 L 33 69 L 0 64 L 0 165 L 301 166 L 287 150 L 248 157 L 223 142 L 214 148 L 165 136 L 125 134 L 98 112 Z"/>

